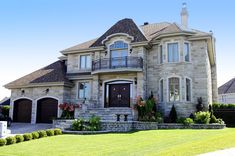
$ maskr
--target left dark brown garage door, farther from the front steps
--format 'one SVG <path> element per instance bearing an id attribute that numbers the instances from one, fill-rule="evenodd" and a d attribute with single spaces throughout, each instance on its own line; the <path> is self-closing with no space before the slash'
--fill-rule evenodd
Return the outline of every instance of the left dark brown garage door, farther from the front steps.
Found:
<path id="1" fill-rule="evenodd" d="M 13 121 L 31 122 L 32 101 L 28 99 L 19 99 L 14 102 Z"/>

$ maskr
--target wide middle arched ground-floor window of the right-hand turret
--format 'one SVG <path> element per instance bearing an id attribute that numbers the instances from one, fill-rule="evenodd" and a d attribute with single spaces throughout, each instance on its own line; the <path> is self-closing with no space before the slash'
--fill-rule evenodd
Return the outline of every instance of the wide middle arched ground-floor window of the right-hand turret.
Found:
<path id="1" fill-rule="evenodd" d="M 180 79 L 178 77 L 171 77 L 168 79 L 168 94 L 169 101 L 179 101 L 180 100 Z"/>

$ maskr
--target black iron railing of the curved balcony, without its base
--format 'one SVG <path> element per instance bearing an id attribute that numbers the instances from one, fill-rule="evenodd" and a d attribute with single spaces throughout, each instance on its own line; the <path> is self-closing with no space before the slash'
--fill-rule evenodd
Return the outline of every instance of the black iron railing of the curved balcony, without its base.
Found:
<path id="1" fill-rule="evenodd" d="M 143 68 L 141 57 L 116 57 L 92 61 L 92 71 L 117 68 Z"/>

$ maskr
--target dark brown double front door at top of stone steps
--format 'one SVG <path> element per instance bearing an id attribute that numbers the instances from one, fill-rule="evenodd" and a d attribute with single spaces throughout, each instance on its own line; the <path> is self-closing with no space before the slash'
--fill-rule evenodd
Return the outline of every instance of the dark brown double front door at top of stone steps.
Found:
<path id="1" fill-rule="evenodd" d="M 109 107 L 130 107 L 130 84 L 109 85 Z"/>

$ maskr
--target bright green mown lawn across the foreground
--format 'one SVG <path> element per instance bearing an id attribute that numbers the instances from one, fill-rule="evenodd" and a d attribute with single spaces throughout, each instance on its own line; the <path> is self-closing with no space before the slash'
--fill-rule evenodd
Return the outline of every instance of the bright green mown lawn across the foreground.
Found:
<path id="1" fill-rule="evenodd" d="M 0 147 L 1 156 L 196 155 L 235 147 L 235 129 L 60 135 Z"/>

